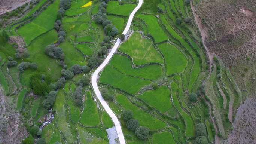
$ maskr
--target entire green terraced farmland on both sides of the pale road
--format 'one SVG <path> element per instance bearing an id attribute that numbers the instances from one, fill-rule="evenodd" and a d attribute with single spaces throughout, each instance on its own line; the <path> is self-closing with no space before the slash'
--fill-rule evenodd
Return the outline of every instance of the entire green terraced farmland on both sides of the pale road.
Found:
<path id="1" fill-rule="evenodd" d="M 71 0 L 65 10 L 62 2 L 41 0 L 24 18 L 0 29 L 0 85 L 34 143 L 44 138 L 47 144 L 115 144 L 108 137 L 115 137 L 113 121 L 90 76 L 138 1 Z M 24 51 L 3 31 L 23 38 Z M 48 52 L 50 44 L 61 49 Z M 242 92 L 228 68 L 205 54 L 187 0 L 143 1 L 98 79 L 127 144 L 194 144 L 198 125 L 205 126 L 208 142 L 227 137 Z M 127 110 L 132 118 L 125 117 Z M 129 127 L 131 121 L 136 128 Z M 33 133 L 38 127 L 42 134 Z M 141 129 L 146 137 L 138 135 Z"/>

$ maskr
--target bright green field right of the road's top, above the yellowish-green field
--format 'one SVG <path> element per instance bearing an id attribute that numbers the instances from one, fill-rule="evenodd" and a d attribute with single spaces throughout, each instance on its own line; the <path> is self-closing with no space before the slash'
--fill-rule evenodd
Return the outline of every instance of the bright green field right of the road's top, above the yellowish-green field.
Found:
<path id="1" fill-rule="evenodd" d="M 156 43 L 163 42 L 168 39 L 168 36 L 158 24 L 158 18 L 153 15 L 138 15 L 138 18 L 146 22 L 147 33 L 152 35 Z"/>

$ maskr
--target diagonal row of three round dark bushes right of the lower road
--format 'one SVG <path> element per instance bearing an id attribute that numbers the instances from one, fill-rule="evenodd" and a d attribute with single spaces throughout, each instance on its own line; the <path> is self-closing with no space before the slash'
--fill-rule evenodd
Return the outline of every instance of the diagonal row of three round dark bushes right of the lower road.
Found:
<path id="1" fill-rule="evenodd" d="M 139 139 L 146 140 L 148 138 L 149 128 L 140 126 L 138 120 L 133 118 L 133 112 L 131 110 L 124 111 L 123 119 L 126 121 L 127 129 L 135 131 L 135 135 Z"/>

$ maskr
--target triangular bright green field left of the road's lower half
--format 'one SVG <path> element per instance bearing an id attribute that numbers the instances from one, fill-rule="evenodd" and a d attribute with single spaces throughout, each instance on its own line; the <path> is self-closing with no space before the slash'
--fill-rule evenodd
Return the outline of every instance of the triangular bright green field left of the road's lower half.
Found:
<path id="1" fill-rule="evenodd" d="M 85 108 L 81 114 L 80 123 L 85 126 L 97 126 L 100 123 L 100 118 L 97 110 L 97 105 L 93 101 L 91 93 L 86 92 Z"/>

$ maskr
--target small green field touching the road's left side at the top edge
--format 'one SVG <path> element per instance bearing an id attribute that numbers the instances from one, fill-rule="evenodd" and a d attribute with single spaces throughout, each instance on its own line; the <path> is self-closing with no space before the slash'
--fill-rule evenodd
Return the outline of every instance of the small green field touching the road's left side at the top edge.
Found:
<path id="1" fill-rule="evenodd" d="M 129 16 L 132 10 L 136 7 L 135 4 L 122 4 L 119 5 L 118 1 L 109 1 L 107 4 L 107 13 Z"/>

